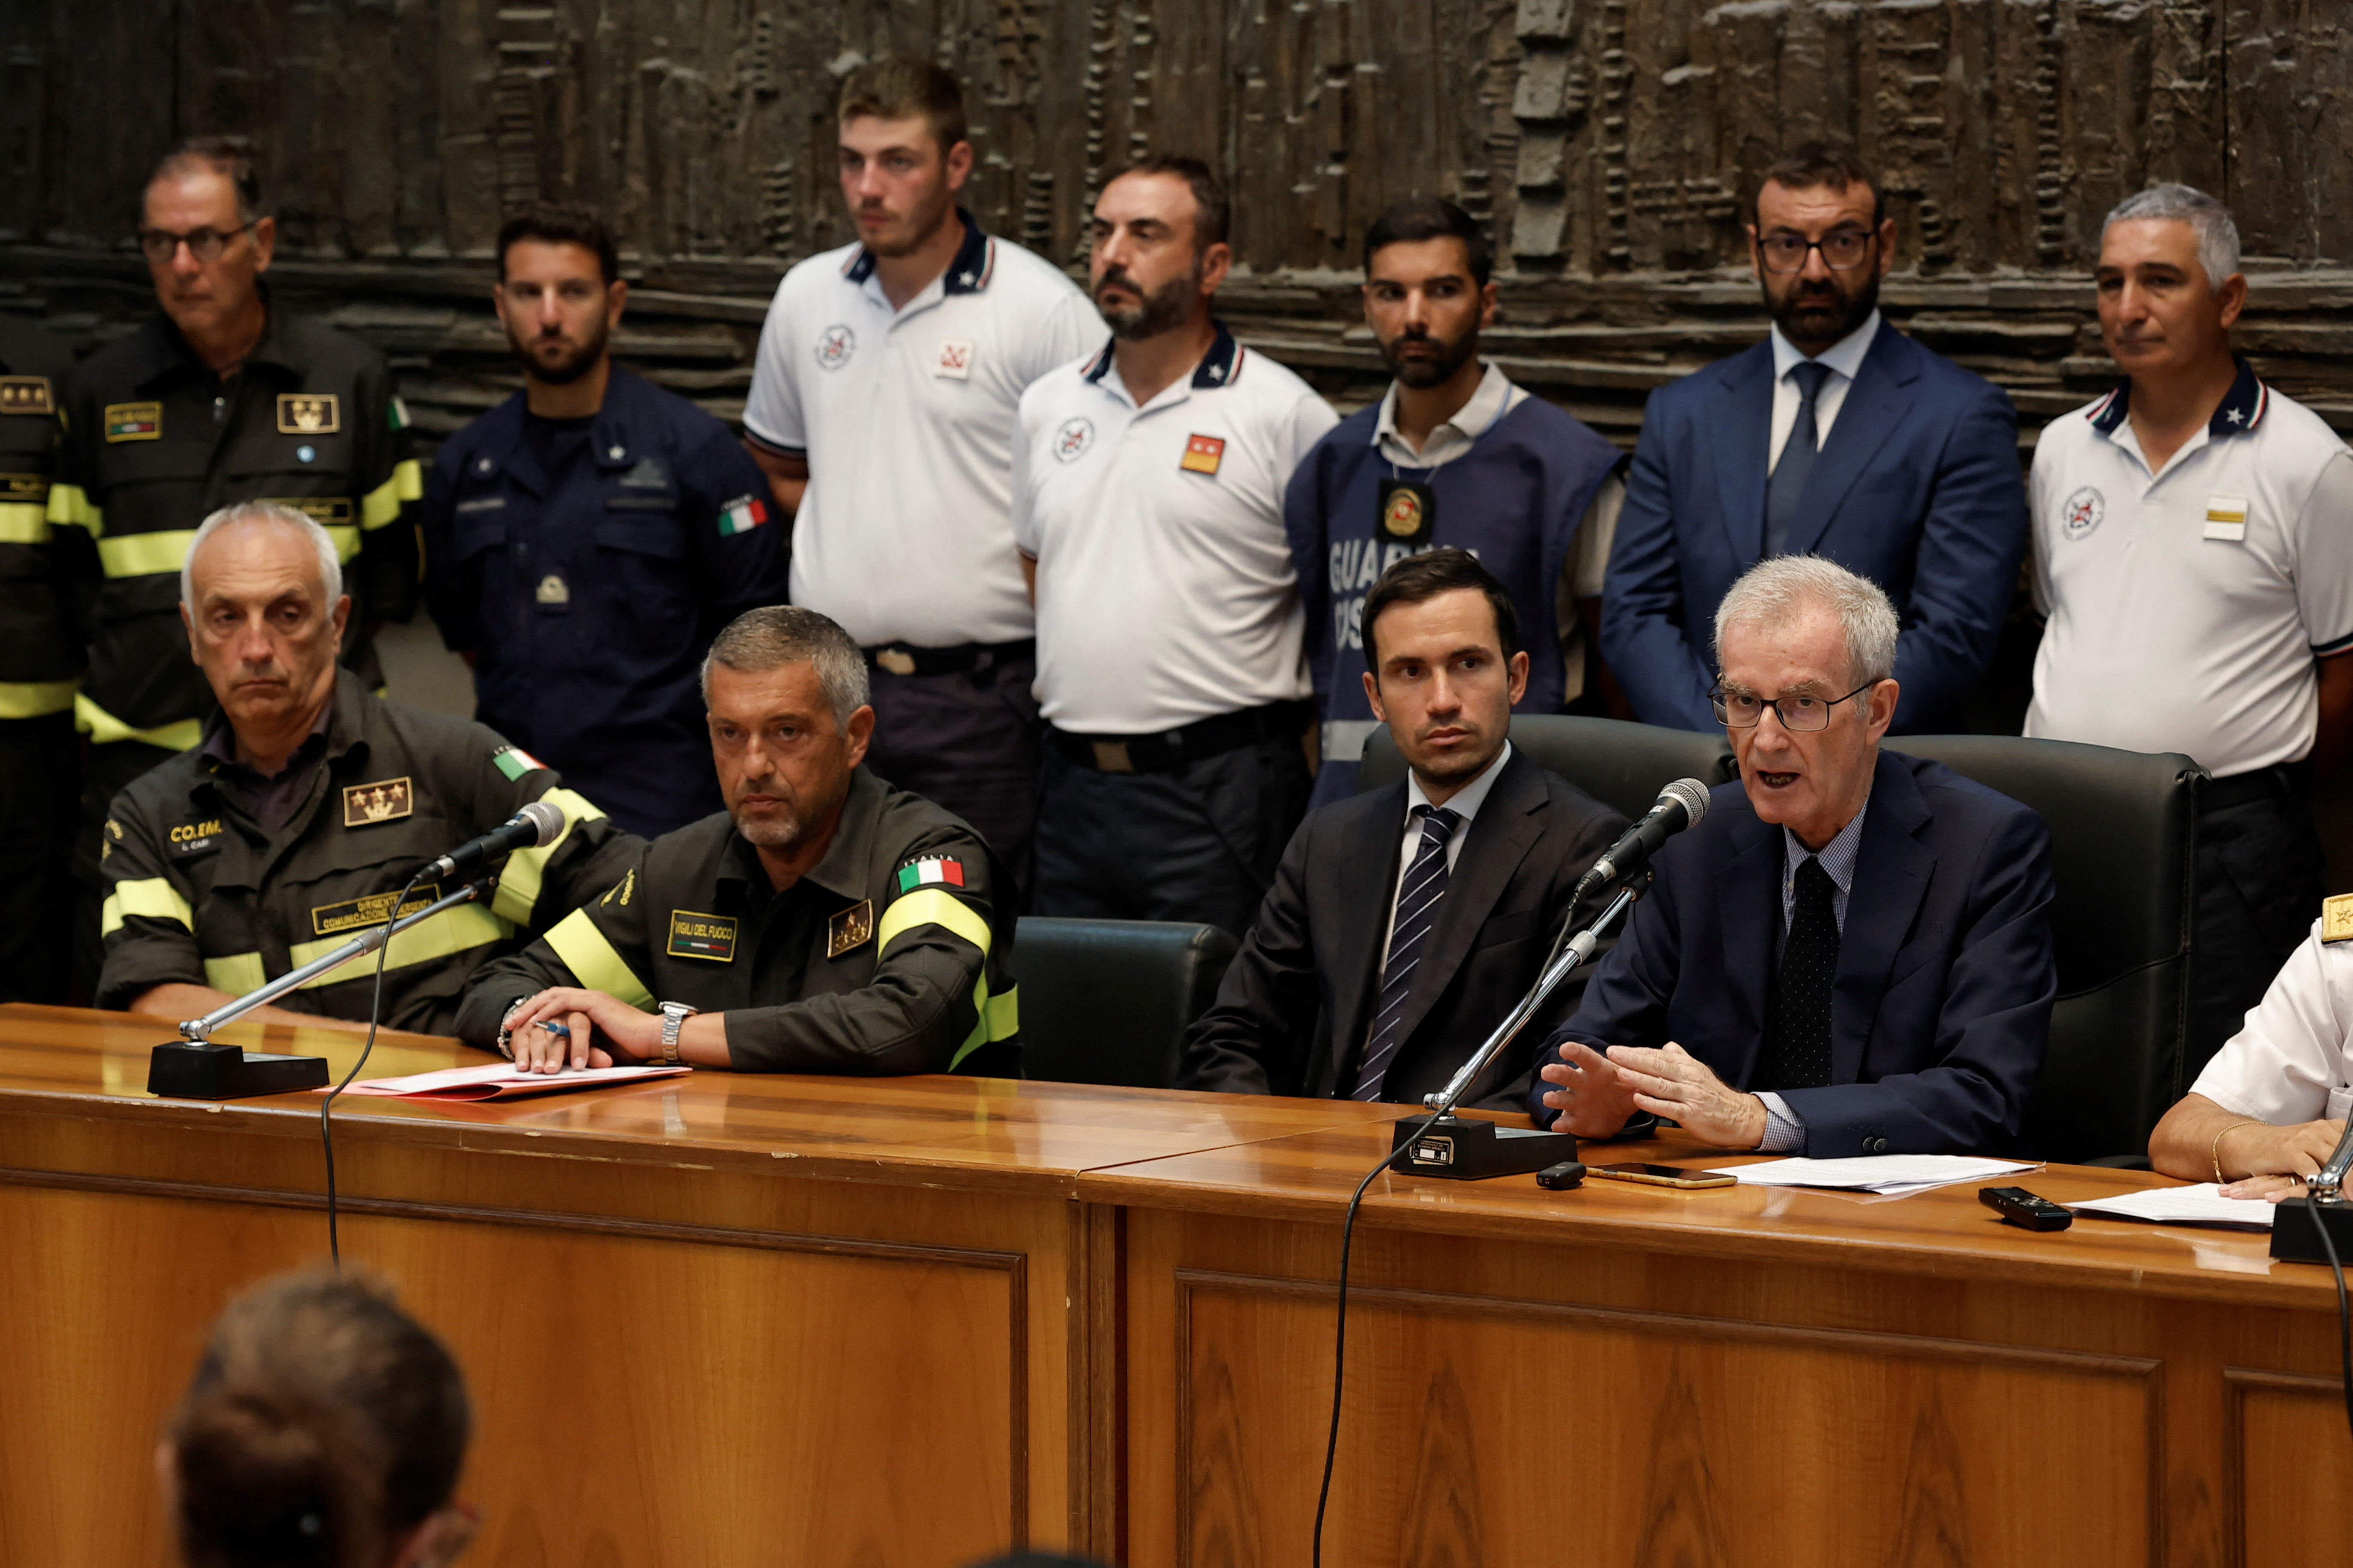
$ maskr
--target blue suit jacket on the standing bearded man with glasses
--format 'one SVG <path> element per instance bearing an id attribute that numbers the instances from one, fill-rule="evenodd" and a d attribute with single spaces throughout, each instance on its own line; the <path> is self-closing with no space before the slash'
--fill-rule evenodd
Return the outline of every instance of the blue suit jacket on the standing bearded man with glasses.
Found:
<path id="1" fill-rule="evenodd" d="M 1715 729 L 1715 607 L 1765 557 L 1772 343 L 1649 395 L 1602 590 L 1602 658 L 1645 724 Z M 1899 733 L 1960 729 L 2026 550 L 2019 416 L 1993 383 L 1880 322 L 1814 458 L 1791 555 L 1894 599 Z"/>

